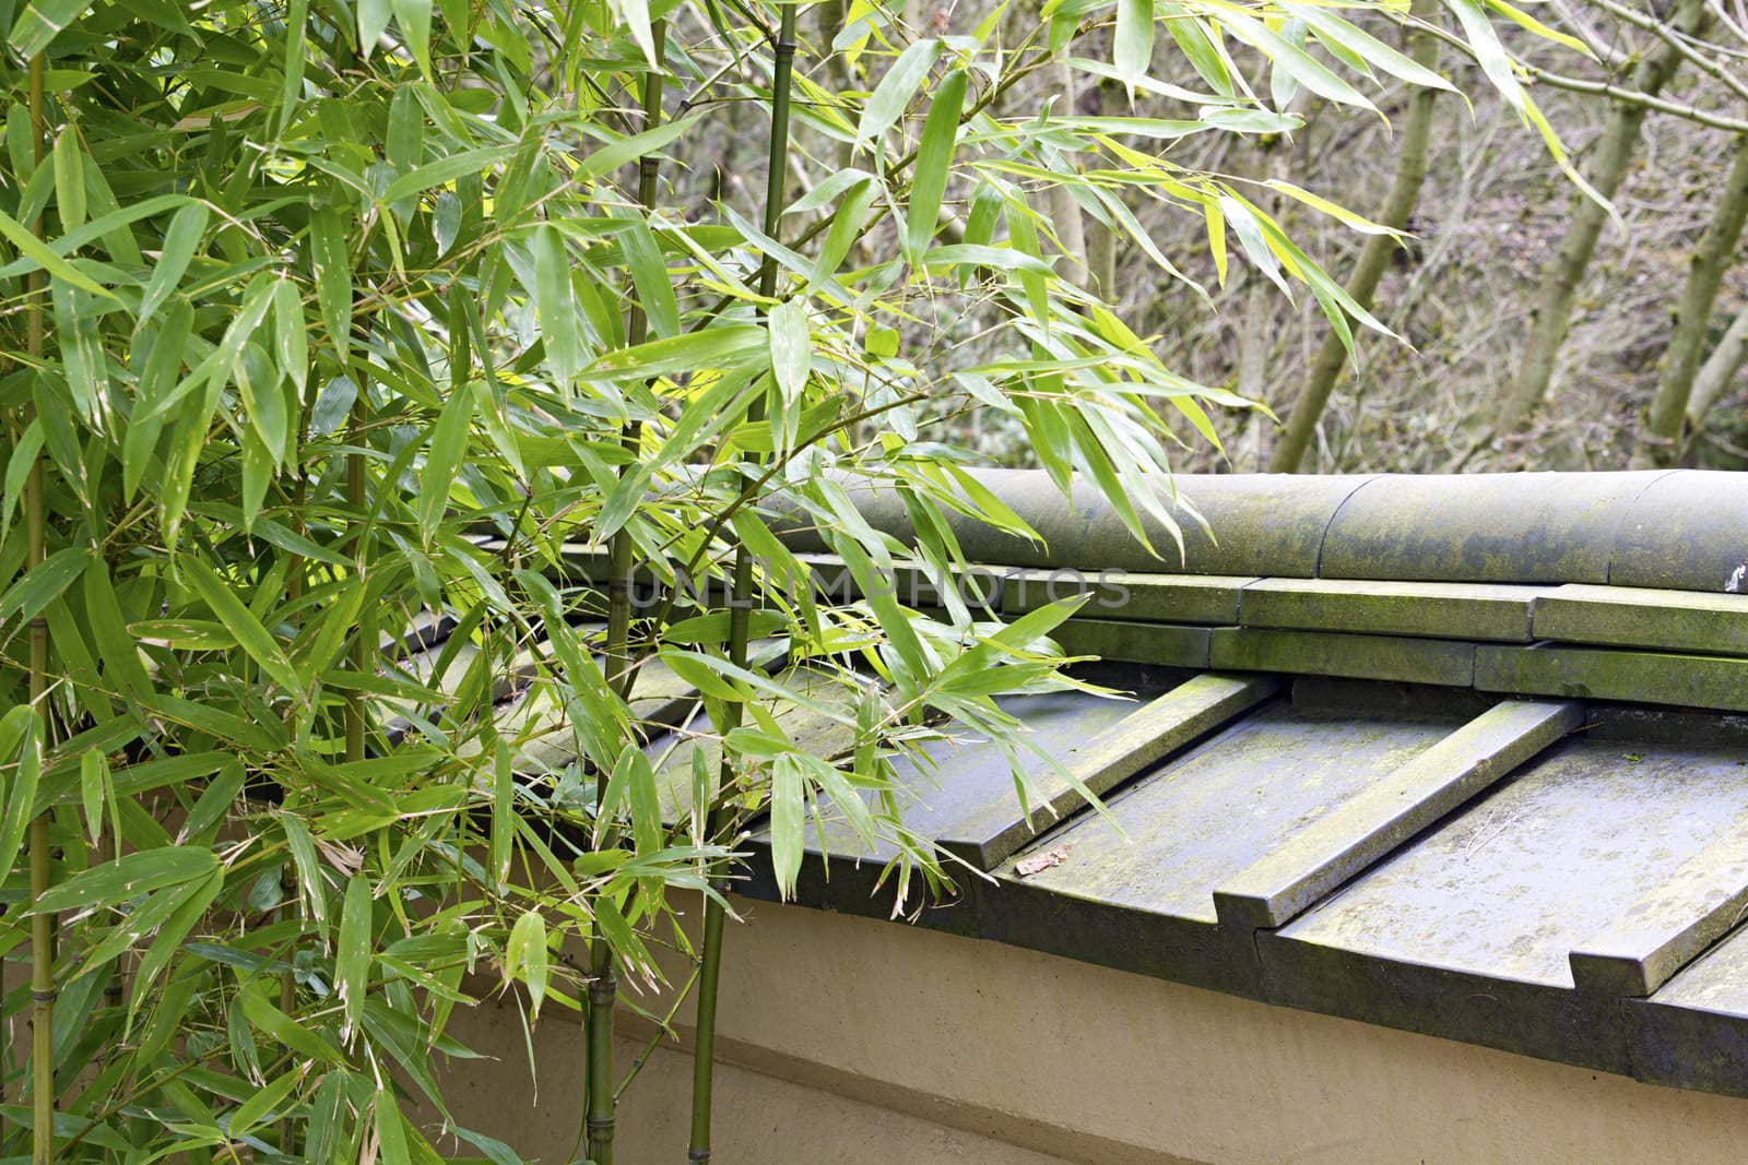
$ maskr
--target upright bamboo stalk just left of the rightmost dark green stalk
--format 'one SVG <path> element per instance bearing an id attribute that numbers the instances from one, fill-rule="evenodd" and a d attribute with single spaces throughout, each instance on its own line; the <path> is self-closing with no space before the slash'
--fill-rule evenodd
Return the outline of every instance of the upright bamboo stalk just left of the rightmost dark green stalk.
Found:
<path id="1" fill-rule="evenodd" d="M 656 21 L 650 28 L 656 49 L 656 68 L 643 77 L 643 129 L 661 124 L 662 63 L 668 45 L 668 23 Z M 654 210 L 659 178 L 659 159 L 647 154 L 638 159 L 638 204 L 645 213 Z M 626 346 L 635 348 L 649 339 L 649 313 L 633 297 L 626 309 Z M 628 421 L 621 431 L 626 452 L 636 459 L 643 442 L 643 426 Z M 607 681 L 621 699 L 631 699 L 636 672 L 631 667 L 631 529 L 621 526 L 608 550 L 608 608 L 607 608 Z M 601 814 L 607 781 L 612 774 L 598 772 L 594 779 L 594 812 Z M 612 833 L 603 833 L 603 845 L 612 844 Z M 614 968 L 612 943 L 596 933 L 589 940 L 589 1008 L 584 1013 L 587 1032 L 589 1071 L 586 1076 L 584 1111 L 587 1113 L 589 1160 L 596 1165 L 614 1162 L 614 1008 L 619 1003 L 619 980 Z"/>

